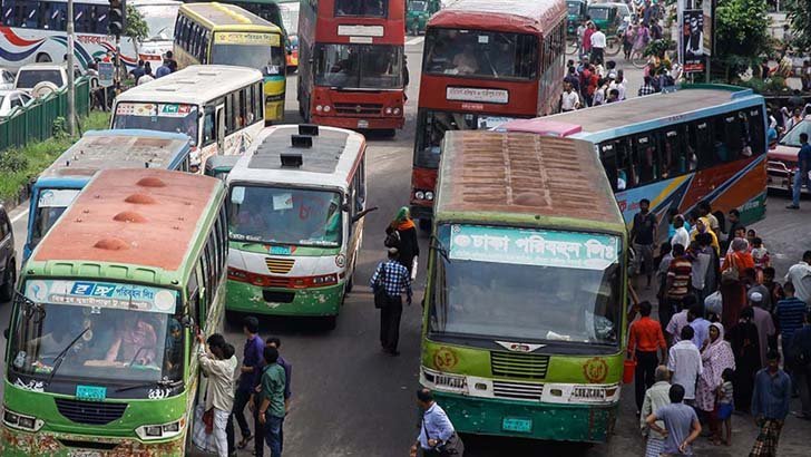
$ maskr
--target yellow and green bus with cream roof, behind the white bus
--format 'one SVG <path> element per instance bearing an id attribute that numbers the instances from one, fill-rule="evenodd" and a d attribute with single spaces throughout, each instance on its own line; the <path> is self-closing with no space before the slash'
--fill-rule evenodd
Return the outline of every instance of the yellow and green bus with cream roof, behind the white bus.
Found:
<path id="1" fill-rule="evenodd" d="M 184 3 L 175 26 L 175 58 L 179 68 L 214 64 L 261 70 L 265 123 L 284 118 L 284 32 L 273 23 L 234 4 Z"/>

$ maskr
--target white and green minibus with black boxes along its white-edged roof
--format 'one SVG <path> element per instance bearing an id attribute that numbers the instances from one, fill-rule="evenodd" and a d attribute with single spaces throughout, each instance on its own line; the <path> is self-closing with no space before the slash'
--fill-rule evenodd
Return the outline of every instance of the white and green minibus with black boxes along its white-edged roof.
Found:
<path id="1" fill-rule="evenodd" d="M 363 236 L 363 135 L 265 128 L 228 174 L 229 312 L 320 317 L 334 328 Z"/>

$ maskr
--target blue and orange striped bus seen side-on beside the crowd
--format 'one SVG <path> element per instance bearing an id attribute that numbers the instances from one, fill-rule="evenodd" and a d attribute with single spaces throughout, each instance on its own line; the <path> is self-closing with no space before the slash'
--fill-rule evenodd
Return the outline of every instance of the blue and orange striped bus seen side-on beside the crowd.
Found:
<path id="1" fill-rule="evenodd" d="M 670 208 L 687 214 L 704 200 L 746 225 L 765 217 L 765 104 L 751 89 L 695 85 L 499 129 L 589 142 L 627 224 L 642 198 L 665 227 Z"/>

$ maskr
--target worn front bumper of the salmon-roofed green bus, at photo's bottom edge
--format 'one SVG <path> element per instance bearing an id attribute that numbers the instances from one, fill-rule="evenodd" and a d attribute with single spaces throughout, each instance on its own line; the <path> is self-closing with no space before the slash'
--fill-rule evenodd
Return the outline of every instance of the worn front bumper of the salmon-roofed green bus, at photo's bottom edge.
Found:
<path id="1" fill-rule="evenodd" d="M 0 455 L 28 456 L 183 456 L 185 436 L 163 443 L 143 443 L 135 438 L 108 438 L 52 431 L 28 432 L 0 427 Z M 86 447 L 82 447 L 86 446 Z"/>

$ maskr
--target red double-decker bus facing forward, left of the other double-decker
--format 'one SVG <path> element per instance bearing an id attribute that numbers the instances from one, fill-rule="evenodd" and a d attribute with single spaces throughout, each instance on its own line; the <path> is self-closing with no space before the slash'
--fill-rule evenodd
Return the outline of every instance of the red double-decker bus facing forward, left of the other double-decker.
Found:
<path id="1" fill-rule="evenodd" d="M 402 0 L 302 0 L 299 109 L 305 120 L 402 128 L 404 6 Z"/>

